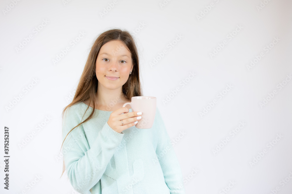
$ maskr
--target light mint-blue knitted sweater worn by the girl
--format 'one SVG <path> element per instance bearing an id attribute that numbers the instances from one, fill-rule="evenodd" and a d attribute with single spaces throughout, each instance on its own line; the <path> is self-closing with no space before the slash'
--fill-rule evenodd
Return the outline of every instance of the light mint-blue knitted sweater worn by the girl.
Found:
<path id="1" fill-rule="evenodd" d="M 86 108 L 79 102 L 65 111 L 62 140 L 88 118 L 93 108 L 89 106 L 84 115 Z M 121 133 L 109 127 L 111 113 L 95 109 L 93 118 L 67 136 L 62 152 L 73 188 L 82 194 L 185 193 L 180 164 L 158 108 L 151 129 L 133 126 Z"/>

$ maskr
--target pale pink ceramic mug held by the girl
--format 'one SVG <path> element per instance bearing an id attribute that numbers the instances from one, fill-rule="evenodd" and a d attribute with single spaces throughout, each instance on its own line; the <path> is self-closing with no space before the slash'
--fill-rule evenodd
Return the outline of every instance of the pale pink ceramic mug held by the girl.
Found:
<path id="1" fill-rule="evenodd" d="M 131 106 L 132 112 L 142 112 L 142 119 L 135 125 L 136 128 L 150 129 L 153 125 L 156 113 L 156 97 L 134 96 L 131 98 L 131 102 L 125 103 L 123 107 L 127 104 Z"/>

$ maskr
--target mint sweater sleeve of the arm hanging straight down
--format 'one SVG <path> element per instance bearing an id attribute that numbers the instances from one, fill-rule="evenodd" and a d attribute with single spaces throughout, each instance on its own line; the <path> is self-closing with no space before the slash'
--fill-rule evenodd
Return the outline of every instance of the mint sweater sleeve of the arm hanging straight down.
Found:
<path id="1" fill-rule="evenodd" d="M 158 108 L 156 108 L 155 117 L 157 117 L 157 129 L 160 137 L 157 142 L 156 154 L 163 171 L 165 183 L 171 194 L 185 194 L 180 164 Z"/>

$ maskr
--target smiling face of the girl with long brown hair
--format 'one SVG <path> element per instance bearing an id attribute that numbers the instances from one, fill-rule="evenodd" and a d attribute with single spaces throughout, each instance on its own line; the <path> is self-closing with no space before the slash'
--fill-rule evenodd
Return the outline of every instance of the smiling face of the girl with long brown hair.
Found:
<path id="1" fill-rule="evenodd" d="M 122 87 L 133 70 L 131 52 L 120 40 L 104 44 L 96 59 L 96 77 L 100 84 L 108 89 Z"/>

